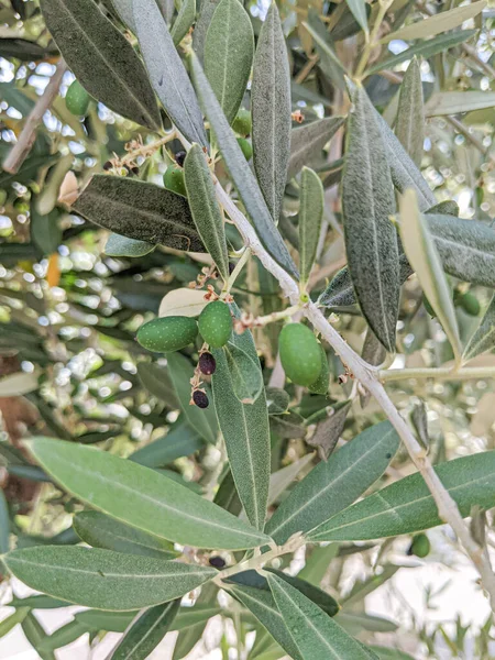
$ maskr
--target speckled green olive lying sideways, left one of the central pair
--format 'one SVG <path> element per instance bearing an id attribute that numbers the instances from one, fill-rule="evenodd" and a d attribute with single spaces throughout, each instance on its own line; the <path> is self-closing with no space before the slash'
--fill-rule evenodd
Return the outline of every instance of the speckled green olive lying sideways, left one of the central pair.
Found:
<path id="1" fill-rule="evenodd" d="M 138 342 L 148 351 L 168 353 L 179 351 L 193 343 L 198 334 L 198 324 L 189 317 L 164 317 L 141 326 Z"/>

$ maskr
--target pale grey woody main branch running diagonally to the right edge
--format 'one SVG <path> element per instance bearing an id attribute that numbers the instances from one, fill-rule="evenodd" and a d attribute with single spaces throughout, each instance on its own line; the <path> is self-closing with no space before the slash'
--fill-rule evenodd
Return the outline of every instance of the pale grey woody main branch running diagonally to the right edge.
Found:
<path id="1" fill-rule="evenodd" d="M 217 200 L 230 216 L 231 220 L 241 233 L 244 243 L 257 256 L 263 266 L 278 280 L 282 292 L 289 298 L 293 305 L 300 305 L 299 287 L 297 283 L 279 266 L 262 245 L 251 223 L 235 206 L 230 196 L 223 190 L 218 180 L 215 180 Z M 315 302 L 309 301 L 301 307 L 302 314 L 312 323 L 314 328 L 328 341 L 342 362 L 352 372 L 354 377 L 375 397 L 383 411 L 396 429 L 404 442 L 413 462 L 421 473 L 438 508 L 440 518 L 448 522 L 464 550 L 476 566 L 483 583 L 483 587 L 490 595 L 492 610 L 495 612 L 495 575 L 486 553 L 471 537 L 468 527 L 462 519 L 455 502 L 443 486 L 431 462 L 425 454 L 424 448 L 407 426 L 399 411 L 392 403 L 384 386 L 380 382 L 380 372 L 364 362 L 358 353 L 348 345 L 342 337 L 324 318 Z"/>

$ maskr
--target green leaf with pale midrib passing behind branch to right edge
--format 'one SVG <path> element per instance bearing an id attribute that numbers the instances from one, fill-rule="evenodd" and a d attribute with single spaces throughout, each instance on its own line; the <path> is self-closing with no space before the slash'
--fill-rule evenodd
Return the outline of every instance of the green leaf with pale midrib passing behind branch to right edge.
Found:
<path id="1" fill-rule="evenodd" d="M 435 468 L 444 487 L 466 517 L 477 504 L 495 506 L 495 451 L 454 459 Z M 411 534 L 441 525 L 437 505 L 419 473 L 365 497 L 308 535 L 310 542 L 355 541 Z"/>

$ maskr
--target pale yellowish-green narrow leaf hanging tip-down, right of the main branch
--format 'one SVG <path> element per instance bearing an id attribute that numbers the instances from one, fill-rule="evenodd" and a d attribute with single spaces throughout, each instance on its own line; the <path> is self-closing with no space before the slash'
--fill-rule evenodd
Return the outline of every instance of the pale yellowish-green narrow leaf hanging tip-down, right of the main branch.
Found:
<path id="1" fill-rule="evenodd" d="M 407 258 L 416 271 L 419 283 L 449 338 L 455 361 L 461 362 L 462 346 L 458 320 L 440 256 L 427 221 L 418 209 L 416 193 L 406 190 L 400 199 L 400 238 Z"/>

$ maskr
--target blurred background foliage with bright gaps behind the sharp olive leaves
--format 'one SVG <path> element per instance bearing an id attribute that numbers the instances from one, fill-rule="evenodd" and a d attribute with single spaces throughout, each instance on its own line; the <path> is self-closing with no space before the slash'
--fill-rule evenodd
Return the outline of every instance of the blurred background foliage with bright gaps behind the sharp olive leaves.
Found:
<path id="1" fill-rule="evenodd" d="M 109 0 L 100 4 L 120 25 Z M 383 33 L 457 4 L 455 1 L 415 3 L 395 0 L 387 12 Z M 266 6 L 262 2 L 249 2 L 248 6 L 257 34 Z M 164 2 L 163 9 L 174 13 L 173 3 Z M 343 81 L 329 52 L 337 53 L 341 62 L 350 65 L 356 61 L 362 33 L 359 33 L 348 6 L 323 0 L 299 0 L 297 3 L 284 0 L 279 9 L 292 59 L 293 110 L 300 112 L 299 121 L 306 123 L 316 118 L 345 113 L 348 101 Z M 367 9 L 373 21 L 377 3 L 369 4 Z M 460 43 L 421 63 L 427 107 L 435 95 L 440 95 L 436 97 L 440 102 L 444 91 L 486 95 L 493 89 L 495 10 L 485 9 L 463 29 L 470 31 L 465 34 L 465 45 Z M 365 79 L 371 99 L 389 123 L 395 118 L 398 88 L 408 61 L 396 64 L 392 61 L 386 67 L 381 67 L 380 63 L 398 55 L 407 45 L 410 44 L 392 41 L 377 47 L 372 57 L 377 73 Z M 2 161 L 54 74 L 57 59 L 57 48 L 44 26 L 37 2 L 0 0 Z M 179 480 L 201 493 L 211 490 L 223 469 L 221 448 L 209 442 L 208 430 L 188 405 L 188 380 L 197 361 L 197 348 L 182 351 L 184 362 L 170 373 L 172 365 L 167 366 L 160 355 L 151 356 L 134 340 L 136 329 L 158 312 L 168 292 L 187 288 L 204 268 L 208 268 L 208 256 L 161 246 L 132 260 L 107 256 L 103 250 L 108 232 L 72 215 L 67 205 L 91 175 L 103 168 L 162 185 L 163 174 L 180 145 L 172 142 L 150 157 L 138 156 L 138 167 L 121 167 L 114 161 L 116 154 L 122 157 L 125 151 L 140 148 L 141 142 L 145 144 L 151 135 L 94 101 L 86 117 L 73 116 L 64 100 L 73 79 L 70 73 L 65 74 L 59 96 L 45 113 L 33 148 L 19 173 L 0 172 L 0 480 L 4 493 L 4 499 L 0 501 L 0 518 L 3 549 L 8 543 L 25 547 L 79 540 L 70 524 L 72 514 L 81 506 L 56 488 L 40 468 L 31 464 L 21 442 L 29 435 L 98 444 L 123 457 L 133 454 L 133 460 L 163 471 L 164 476 Z M 471 105 L 463 107 L 461 103 L 453 116 L 446 113 L 428 119 L 421 164 L 438 201 L 454 199 L 461 217 L 476 217 L 487 222 L 495 211 L 495 89 L 491 94 L 494 97 L 492 107 L 476 109 L 475 97 L 470 97 Z M 328 278 L 344 264 L 336 195 L 341 156 L 340 136 L 330 147 L 317 152 L 312 162 L 326 188 L 329 231 L 319 271 L 312 278 L 311 294 L 320 293 Z M 293 182 L 286 190 L 280 228 L 294 250 L 297 250 L 297 184 Z M 239 248 L 239 235 L 232 228 L 229 230 L 229 239 Z M 491 292 L 453 278 L 450 284 L 465 339 L 476 327 Z M 254 260 L 238 279 L 233 293 L 240 307 L 253 315 L 266 315 L 284 305 L 277 283 Z M 398 333 L 402 355 L 396 358 L 394 366 L 440 366 L 451 359 L 440 326 L 422 302 L 417 282 L 411 278 L 403 294 Z M 363 319 L 354 314 L 341 314 L 333 320 L 346 341 L 361 350 L 365 331 Z M 273 371 L 278 331 L 277 324 L 256 331 L 256 344 L 266 383 L 279 387 L 276 369 Z M 310 464 L 330 449 L 333 439 L 340 435 L 352 438 L 382 419 L 373 402 L 364 409 L 361 407 L 354 384 L 345 378 L 340 361 L 329 358 L 332 367 L 329 397 L 300 396 L 294 386 L 286 388 L 290 398 L 273 391 L 273 473 L 283 475 L 279 471 L 285 469 L 290 470 L 292 475 L 304 475 Z M 483 355 L 476 363 L 495 365 L 495 356 Z M 408 414 L 420 400 L 425 402 L 430 454 L 435 462 L 495 447 L 495 388 L 492 381 L 405 381 L 389 384 L 389 392 L 399 409 Z M 339 403 L 350 397 L 352 405 L 342 413 Z M 285 413 L 288 403 L 290 414 L 280 414 Z M 340 411 L 337 438 L 332 435 L 334 420 L 333 431 L 328 429 L 329 410 Z M 406 457 L 400 454 L 384 480 L 393 480 L 411 470 Z M 230 510 L 239 513 L 240 505 L 229 474 L 215 496 Z M 274 497 L 274 505 L 278 497 Z M 449 537 L 435 532 L 432 539 L 436 542 L 431 554 L 421 561 L 455 563 Z M 493 634 L 490 618 L 486 625 L 470 630 L 463 628 L 462 617 L 458 622 L 446 622 L 448 625 L 429 620 L 427 615 L 420 622 L 414 612 L 408 612 L 399 600 L 400 594 L 392 586 L 389 597 L 396 601 L 391 616 L 396 620 L 365 614 L 365 596 L 389 581 L 399 566 L 418 565 L 417 557 L 407 556 L 410 542 L 411 539 L 402 538 L 364 547 L 333 544 L 314 549 L 304 571 L 308 575 L 311 572 L 318 574 L 320 580 L 324 578 L 324 586 L 343 604 L 348 626 L 353 634 L 360 632 L 363 640 L 400 646 L 397 638 L 400 631 L 403 648 L 417 658 L 428 653 L 438 657 L 440 647 L 449 649 L 446 652 L 452 658 L 495 657 L 488 650 Z M 426 612 L 429 607 L 435 608 L 436 595 L 425 594 Z M 404 594 L 402 596 L 404 600 Z M 3 604 L 10 597 L 10 592 L 4 590 Z M 398 607 L 397 603 L 400 603 Z M 241 634 L 249 629 L 250 626 Z M 175 658 L 185 656 L 193 648 L 200 639 L 204 626 L 188 630 L 187 635 L 182 632 L 179 636 Z M 229 628 L 226 630 L 219 642 L 224 658 L 230 657 L 231 646 Z M 98 631 L 101 637 L 101 630 L 91 629 L 91 638 Z M 1 632 L 6 629 L 0 623 Z M 43 631 L 38 630 L 38 634 L 43 635 Z M 466 639 L 474 656 L 464 654 Z M 268 654 L 270 649 L 263 654 L 261 638 L 256 647 L 250 658 L 279 657 L 276 652 Z"/>

